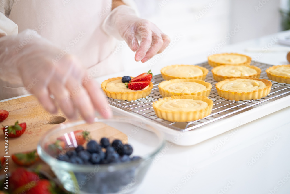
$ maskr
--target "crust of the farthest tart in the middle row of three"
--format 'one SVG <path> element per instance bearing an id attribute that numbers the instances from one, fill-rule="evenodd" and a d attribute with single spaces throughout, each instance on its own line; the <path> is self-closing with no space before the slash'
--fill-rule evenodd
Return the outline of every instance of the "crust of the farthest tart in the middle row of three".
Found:
<path id="1" fill-rule="evenodd" d="M 170 69 L 170 68 L 174 68 L 174 67 L 197 67 L 199 68 L 200 70 L 202 70 L 202 75 L 197 75 L 197 76 L 193 76 L 193 77 L 188 77 L 186 75 L 184 76 L 173 76 L 173 75 L 169 75 L 169 74 L 166 74 L 166 70 Z M 169 66 L 166 66 L 166 67 L 163 67 L 161 70 L 161 75 L 162 75 L 162 78 L 165 79 L 165 80 L 170 80 L 170 79 L 178 79 L 178 78 L 192 78 L 192 79 L 200 79 L 200 80 L 204 80 L 206 75 L 208 74 L 209 70 L 207 70 L 206 68 L 204 67 L 200 67 L 200 66 L 197 66 L 197 65 L 169 65 Z"/>

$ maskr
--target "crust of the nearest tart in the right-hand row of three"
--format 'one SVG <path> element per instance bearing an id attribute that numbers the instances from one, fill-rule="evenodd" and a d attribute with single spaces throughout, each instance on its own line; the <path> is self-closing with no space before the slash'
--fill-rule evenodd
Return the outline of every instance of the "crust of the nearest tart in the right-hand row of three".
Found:
<path id="1" fill-rule="evenodd" d="M 258 90 L 254 91 L 249 91 L 249 92 L 232 92 L 232 91 L 225 91 L 222 90 L 221 87 L 230 81 L 234 81 L 237 79 L 250 79 L 250 80 L 257 80 L 263 82 L 266 87 L 261 88 Z M 218 95 L 224 99 L 227 100 L 255 100 L 255 99 L 260 99 L 262 97 L 267 96 L 270 93 L 272 83 L 271 81 L 267 79 L 258 79 L 258 78 L 248 78 L 248 77 L 239 77 L 239 78 L 231 78 L 231 79 L 225 79 L 223 81 L 220 81 L 215 84 L 215 88 L 217 89 Z"/>

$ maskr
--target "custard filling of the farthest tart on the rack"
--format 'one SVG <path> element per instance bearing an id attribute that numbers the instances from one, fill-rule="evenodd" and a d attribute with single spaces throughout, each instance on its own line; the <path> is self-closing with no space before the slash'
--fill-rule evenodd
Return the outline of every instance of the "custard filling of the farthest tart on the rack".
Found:
<path id="1" fill-rule="evenodd" d="M 210 59 L 217 63 L 226 63 L 226 64 L 239 64 L 247 62 L 247 57 L 236 54 L 212 55 Z"/>

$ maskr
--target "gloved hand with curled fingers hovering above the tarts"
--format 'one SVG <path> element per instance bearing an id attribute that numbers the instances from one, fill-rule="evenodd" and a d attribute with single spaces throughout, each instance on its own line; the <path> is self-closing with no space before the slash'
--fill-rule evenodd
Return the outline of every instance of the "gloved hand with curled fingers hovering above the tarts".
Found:
<path id="1" fill-rule="evenodd" d="M 126 5 L 113 9 L 102 28 L 108 35 L 124 39 L 130 49 L 136 51 L 135 60 L 143 63 L 161 53 L 170 43 L 170 38 L 155 24 L 138 18 L 135 11 Z"/>

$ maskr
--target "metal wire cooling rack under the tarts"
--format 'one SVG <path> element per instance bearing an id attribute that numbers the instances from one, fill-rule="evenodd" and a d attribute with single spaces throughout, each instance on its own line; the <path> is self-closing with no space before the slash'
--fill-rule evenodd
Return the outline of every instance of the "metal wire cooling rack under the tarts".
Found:
<path id="1" fill-rule="evenodd" d="M 209 82 L 213 85 L 211 89 L 211 93 L 209 95 L 209 98 L 213 100 L 212 112 L 210 115 L 200 120 L 195 120 L 191 122 L 170 122 L 170 121 L 158 118 L 155 115 L 155 111 L 153 110 L 152 104 L 153 102 L 157 101 L 159 98 L 162 98 L 162 96 L 159 93 L 159 88 L 158 88 L 158 84 L 164 81 L 161 74 L 153 76 L 151 81 L 153 82 L 154 86 L 150 95 L 148 95 L 147 97 L 142 98 L 142 99 L 137 99 L 134 101 L 117 100 L 117 99 L 112 99 L 108 97 L 108 101 L 113 106 L 116 106 L 118 108 L 121 108 L 123 110 L 129 111 L 132 113 L 142 115 L 146 118 L 149 118 L 171 129 L 175 129 L 179 131 L 189 131 L 189 130 L 200 128 L 206 124 L 210 124 L 215 121 L 229 118 L 233 115 L 239 114 L 241 112 L 250 110 L 252 108 L 256 108 L 257 106 L 261 106 L 263 104 L 272 102 L 276 99 L 290 95 L 290 84 L 277 83 L 275 81 L 272 81 L 271 92 L 269 93 L 269 95 L 261 99 L 240 100 L 240 101 L 226 100 L 224 98 L 221 98 L 218 95 L 218 92 L 215 88 L 215 83 L 217 83 L 217 81 L 213 79 L 213 75 L 211 73 L 212 67 L 207 62 L 197 64 L 197 65 L 201 67 L 205 67 L 209 70 L 209 74 L 207 74 L 206 79 L 204 81 Z M 259 67 L 262 70 L 260 78 L 268 79 L 268 76 L 265 70 L 273 65 L 257 63 L 257 62 L 252 62 L 251 65 Z"/>

